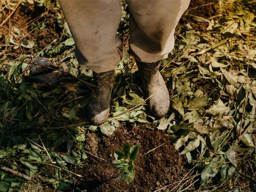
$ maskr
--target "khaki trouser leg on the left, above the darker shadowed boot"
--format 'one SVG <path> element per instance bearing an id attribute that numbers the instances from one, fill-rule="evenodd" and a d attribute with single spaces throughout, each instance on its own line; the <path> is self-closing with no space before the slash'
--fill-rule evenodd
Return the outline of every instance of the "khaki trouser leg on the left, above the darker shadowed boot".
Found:
<path id="1" fill-rule="evenodd" d="M 60 0 L 80 65 L 96 73 L 114 70 L 121 61 L 122 42 L 116 35 L 119 0 Z"/>

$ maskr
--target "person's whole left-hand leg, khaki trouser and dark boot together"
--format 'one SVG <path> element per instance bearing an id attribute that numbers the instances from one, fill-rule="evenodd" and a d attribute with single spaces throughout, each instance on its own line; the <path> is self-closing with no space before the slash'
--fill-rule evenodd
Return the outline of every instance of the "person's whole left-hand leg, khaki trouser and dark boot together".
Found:
<path id="1" fill-rule="evenodd" d="M 119 0 L 60 0 L 76 42 L 80 65 L 93 70 L 93 88 L 87 115 L 95 124 L 108 118 L 114 69 L 122 59 L 122 42 L 116 35 L 121 20 Z"/>

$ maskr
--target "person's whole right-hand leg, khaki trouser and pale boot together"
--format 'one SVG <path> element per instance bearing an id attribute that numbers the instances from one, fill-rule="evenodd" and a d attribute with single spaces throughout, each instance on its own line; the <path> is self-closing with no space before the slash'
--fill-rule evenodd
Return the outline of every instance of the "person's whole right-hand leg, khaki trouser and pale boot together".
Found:
<path id="1" fill-rule="evenodd" d="M 142 73 L 148 105 L 156 117 L 170 105 L 169 92 L 159 73 L 160 61 L 174 47 L 174 32 L 190 0 L 127 0 L 130 8 L 130 53 Z"/>

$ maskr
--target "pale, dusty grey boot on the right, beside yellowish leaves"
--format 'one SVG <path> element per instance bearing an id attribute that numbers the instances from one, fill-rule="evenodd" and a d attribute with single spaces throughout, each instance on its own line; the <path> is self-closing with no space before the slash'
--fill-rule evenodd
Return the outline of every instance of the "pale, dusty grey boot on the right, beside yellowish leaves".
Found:
<path id="1" fill-rule="evenodd" d="M 155 117 L 165 116 L 170 107 L 169 92 L 160 74 L 160 61 L 155 63 L 144 63 L 136 61 L 142 74 L 144 94 L 148 98 L 149 109 Z"/>

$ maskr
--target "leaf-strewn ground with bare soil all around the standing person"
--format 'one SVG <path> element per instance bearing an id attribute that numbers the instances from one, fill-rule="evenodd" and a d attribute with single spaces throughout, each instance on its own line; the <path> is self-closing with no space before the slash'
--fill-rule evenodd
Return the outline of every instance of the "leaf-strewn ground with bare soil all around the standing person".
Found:
<path id="1" fill-rule="evenodd" d="M 255 0 L 191 1 L 161 68 L 172 101 L 162 119 L 146 113 L 123 3 L 123 60 L 99 127 L 59 3 L 0 3 L 0 191 L 256 191 Z M 65 72 L 58 84 L 28 81 L 37 56 Z M 111 167 L 126 142 L 140 144 L 130 186 Z"/>

